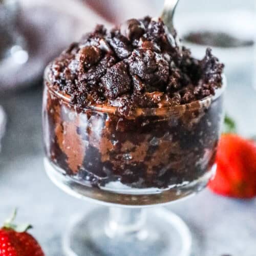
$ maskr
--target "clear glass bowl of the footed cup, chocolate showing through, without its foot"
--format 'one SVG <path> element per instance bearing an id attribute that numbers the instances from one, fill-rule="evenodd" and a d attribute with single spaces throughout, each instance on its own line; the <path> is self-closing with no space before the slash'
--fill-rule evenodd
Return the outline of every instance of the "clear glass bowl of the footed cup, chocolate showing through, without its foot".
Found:
<path id="1" fill-rule="evenodd" d="M 46 73 L 47 74 L 47 73 Z M 214 173 L 222 89 L 172 108 L 79 109 L 45 79 L 43 122 L 50 178 L 78 197 L 127 206 L 162 204 L 201 190 Z"/>

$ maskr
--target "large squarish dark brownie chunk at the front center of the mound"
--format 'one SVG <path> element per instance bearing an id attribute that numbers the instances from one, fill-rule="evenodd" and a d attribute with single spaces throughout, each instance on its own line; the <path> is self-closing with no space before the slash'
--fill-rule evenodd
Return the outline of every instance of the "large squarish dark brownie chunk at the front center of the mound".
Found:
<path id="1" fill-rule="evenodd" d="M 101 78 L 105 97 L 115 99 L 131 90 L 131 78 L 124 62 L 118 62 Z"/>

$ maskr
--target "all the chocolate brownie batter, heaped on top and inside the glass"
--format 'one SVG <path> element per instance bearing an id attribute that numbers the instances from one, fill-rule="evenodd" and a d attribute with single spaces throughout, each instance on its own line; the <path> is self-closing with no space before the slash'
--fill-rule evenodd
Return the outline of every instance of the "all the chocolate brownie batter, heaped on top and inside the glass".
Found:
<path id="1" fill-rule="evenodd" d="M 214 165 L 222 71 L 210 49 L 197 60 L 178 46 L 161 19 L 97 26 L 46 71 L 47 157 L 87 186 L 188 187 Z"/>

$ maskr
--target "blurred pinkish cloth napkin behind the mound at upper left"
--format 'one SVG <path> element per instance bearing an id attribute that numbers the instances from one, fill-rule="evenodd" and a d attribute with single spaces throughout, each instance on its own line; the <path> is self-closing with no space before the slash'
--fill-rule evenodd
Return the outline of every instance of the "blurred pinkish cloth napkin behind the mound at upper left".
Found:
<path id="1" fill-rule="evenodd" d="M 72 41 L 95 27 L 131 17 L 159 15 L 163 0 L 19 0 L 19 31 L 27 41 L 28 61 L 0 66 L 0 91 L 31 86 L 47 63 Z"/>

